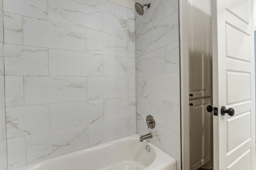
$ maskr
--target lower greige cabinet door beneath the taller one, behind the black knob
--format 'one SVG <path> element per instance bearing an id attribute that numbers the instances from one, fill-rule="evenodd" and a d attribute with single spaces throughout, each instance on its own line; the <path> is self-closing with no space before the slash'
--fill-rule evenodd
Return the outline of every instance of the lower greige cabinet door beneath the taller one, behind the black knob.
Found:
<path id="1" fill-rule="evenodd" d="M 211 99 L 190 101 L 190 170 L 197 170 L 211 160 L 212 123 L 211 113 L 206 107 L 211 105 Z"/>

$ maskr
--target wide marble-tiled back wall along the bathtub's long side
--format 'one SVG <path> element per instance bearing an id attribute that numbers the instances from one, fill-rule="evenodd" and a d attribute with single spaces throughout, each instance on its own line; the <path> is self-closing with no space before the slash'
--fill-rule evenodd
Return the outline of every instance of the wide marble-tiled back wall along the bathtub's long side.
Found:
<path id="1" fill-rule="evenodd" d="M 8 169 L 136 133 L 134 10 L 3 3 Z"/>

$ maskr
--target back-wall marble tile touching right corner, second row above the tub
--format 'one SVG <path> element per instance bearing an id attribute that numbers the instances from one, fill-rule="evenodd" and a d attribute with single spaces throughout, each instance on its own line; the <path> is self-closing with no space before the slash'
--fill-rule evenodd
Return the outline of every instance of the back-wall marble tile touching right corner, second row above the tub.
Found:
<path id="1" fill-rule="evenodd" d="M 104 121 L 136 115 L 136 97 L 104 99 Z"/>

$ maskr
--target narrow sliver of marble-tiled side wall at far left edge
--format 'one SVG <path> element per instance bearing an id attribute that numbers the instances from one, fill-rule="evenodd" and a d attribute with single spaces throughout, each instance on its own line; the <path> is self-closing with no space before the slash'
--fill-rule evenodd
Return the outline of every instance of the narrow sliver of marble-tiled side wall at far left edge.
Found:
<path id="1" fill-rule="evenodd" d="M 7 170 L 7 146 L 4 100 L 4 20 L 3 1 L 0 0 L 0 170 Z"/>

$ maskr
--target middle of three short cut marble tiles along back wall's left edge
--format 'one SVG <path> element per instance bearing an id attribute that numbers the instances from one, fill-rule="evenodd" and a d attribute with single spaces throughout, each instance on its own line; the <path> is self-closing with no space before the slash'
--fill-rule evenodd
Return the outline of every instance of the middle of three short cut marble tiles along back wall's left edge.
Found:
<path id="1" fill-rule="evenodd" d="M 23 76 L 5 76 L 5 105 L 24 105 Z"/>

